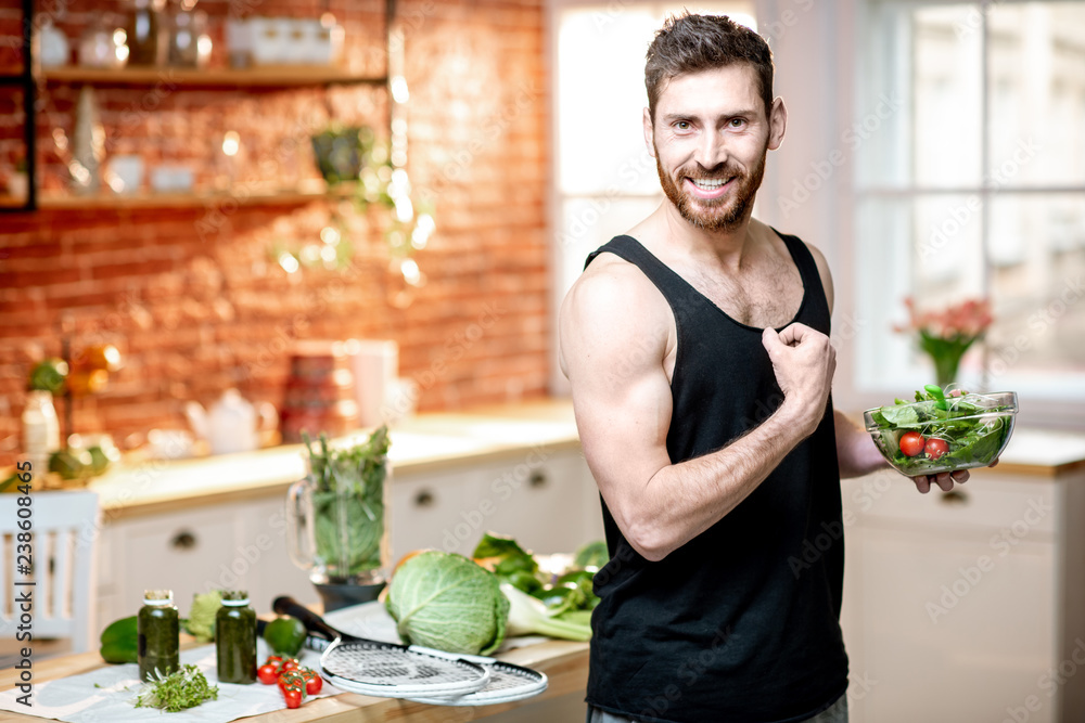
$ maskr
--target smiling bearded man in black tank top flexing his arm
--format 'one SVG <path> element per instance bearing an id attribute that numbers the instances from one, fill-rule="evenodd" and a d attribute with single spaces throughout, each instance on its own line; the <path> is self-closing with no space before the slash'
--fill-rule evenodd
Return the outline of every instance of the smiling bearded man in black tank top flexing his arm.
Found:
<path id="1" fill-rule="evenodd" d="M 666 22 L 643 113 L 666 201 L 562 304 L 611 553 L 589 723 L 847 720 L 840 479 L 885 462 L 832 408 L 825 257 L 752 217 L 788 121 L 773 70 L 725 16 Z M 915 481 L 948 491 L 955 474 Z"/>

